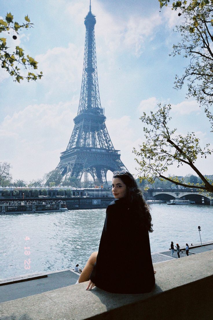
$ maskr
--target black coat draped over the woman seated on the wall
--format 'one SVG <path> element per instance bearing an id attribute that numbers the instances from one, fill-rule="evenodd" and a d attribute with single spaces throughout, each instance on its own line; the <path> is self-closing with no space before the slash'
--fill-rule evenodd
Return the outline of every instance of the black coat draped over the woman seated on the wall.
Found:
<path id="1" fill-rule="evenodd" d="M 106 210 L 97 261 L 90 280 L 108 292 L 145 293 L 155 285 L 148 230 L 133 205 L 113 201 Z"/>

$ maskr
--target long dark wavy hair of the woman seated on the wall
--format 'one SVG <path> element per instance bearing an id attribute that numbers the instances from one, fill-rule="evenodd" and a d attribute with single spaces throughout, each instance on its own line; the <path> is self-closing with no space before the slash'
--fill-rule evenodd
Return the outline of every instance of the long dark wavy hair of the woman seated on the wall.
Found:
<path id="1" fill-rule="evenodd" d="M 139 189 L 134 177 L 128 171 L 115 171 L 113 172 L 113 178 L 119 178 L 123 181 L 127 188 L 127 199 L 129 202 L 137 208 L 136 211 L 140 214 L 143 224 L 149 232 L 153 232 L 152 229 L 152 217 L 150 214 L 150 208 L 145 202 L 142 192 Z M 145 209 L 145 210 L 144 210 Z"/>

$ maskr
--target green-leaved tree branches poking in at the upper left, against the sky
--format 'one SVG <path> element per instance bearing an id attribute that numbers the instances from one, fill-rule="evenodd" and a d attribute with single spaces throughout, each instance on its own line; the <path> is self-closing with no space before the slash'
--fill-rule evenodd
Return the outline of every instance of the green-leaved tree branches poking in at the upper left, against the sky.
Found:
<path id="1" fill-rule="evenodd" d="M 37 80 L 41 79 L 42 72 L 40 74 L 34 74 L 32 72 L 28 72 L 25 76 L 24 73 L 20 72 L 20 67 L 27 69 L 33 68 L 37 69 L 38 62 L 34 60 L 34 58 L 29 55 L 25 56 L 24 50 L 16 46 L 15 50 L 11 50 L 11 48 L 7 47 L 7 38 L 8 33 L 12 31 L 14 34 L 12 36 L 14 42 L 17 39 L 16 34 L 19 34 L 19 31 L 23 28 L 31 28 L 33 23 L 30 23 L 30 19 L 28 16 L 25 16 L 25 22 L 19 24 L 18 22 L 13 21 L 13 15 L 9 12 L 5 16 L 5 19 L 0 20 L 0 33 L 3 33 L 3 36 L 0 38 L 0 61 L 1 67 L 5 69 L 13 78 L 14 81 L 20 82 L 20 80 L 27 79 Z"/>

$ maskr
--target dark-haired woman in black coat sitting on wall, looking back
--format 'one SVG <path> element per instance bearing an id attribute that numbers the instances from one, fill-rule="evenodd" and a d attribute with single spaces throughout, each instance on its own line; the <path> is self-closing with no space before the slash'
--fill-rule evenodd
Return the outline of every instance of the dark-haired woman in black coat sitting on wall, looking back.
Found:
<path id="1" fill-rule="evenodd" d="M 113 293 L 145 293 L 155 285 L 149 235 L 152 232 L 149 207 L 133 176 L 113 172 L 115 201 L 106 210 L 98 252 L 93 252 L 79 277 Z M 137 274 L 133 273 L 133 265 Z"/>

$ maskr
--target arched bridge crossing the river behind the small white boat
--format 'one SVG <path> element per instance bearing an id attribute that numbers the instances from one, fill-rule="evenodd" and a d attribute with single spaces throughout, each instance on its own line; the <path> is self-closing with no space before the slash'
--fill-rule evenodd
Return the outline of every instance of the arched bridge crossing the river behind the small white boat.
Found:
<path id="1" fill-rule="evenodd" d="M 199 193 L 199 190 L 194 188 L 182 189 L 148 189 L 146 192 L 147 199 L 169 201 L 172 199 L 191 200 L 196 204 L 213 204 L 213 197 Z"/>

